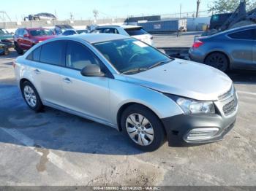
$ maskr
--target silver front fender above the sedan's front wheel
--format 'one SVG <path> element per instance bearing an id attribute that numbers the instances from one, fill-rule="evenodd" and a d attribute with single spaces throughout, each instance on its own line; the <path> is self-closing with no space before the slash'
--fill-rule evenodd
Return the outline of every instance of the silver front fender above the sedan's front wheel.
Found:
<path id="1" fill-rule="evenodd" d="M 136 103 L 151 109 L 162 119 L 183 114 L 175 101 L 157 90 L 125 81 L 110 80 L 110 112 L 113 124 L 117 125 L 117 114 L 124 104 Z"/>

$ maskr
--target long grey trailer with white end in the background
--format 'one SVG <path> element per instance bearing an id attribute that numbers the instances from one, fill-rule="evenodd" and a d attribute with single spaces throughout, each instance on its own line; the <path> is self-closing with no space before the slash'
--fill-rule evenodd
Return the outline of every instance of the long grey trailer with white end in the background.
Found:
<path id="1" fill-rule="evenodd" d="M 187 19 L 140 21 L 138 26 L 142 26 L 145 31 L 151 34 L 173 33 L 187 31 Z"/>

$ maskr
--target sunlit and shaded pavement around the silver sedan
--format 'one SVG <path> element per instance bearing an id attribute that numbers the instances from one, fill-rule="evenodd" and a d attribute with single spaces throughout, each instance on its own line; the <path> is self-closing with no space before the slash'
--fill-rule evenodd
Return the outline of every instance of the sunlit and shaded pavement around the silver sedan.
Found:
<path id="1" fill-rule="evenodd" d="M 0 185 L 256 185 L 256 74 L 232 73 L 236 127 L 200 147 L 143 153 L 112 128 L 46 108 L 32 112 L 0 57 Z"/>

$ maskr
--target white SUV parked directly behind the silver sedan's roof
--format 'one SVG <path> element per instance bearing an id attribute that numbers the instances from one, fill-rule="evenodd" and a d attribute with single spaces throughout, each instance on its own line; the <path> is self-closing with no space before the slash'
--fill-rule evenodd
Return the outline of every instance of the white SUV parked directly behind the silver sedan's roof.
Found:
<path id="1" fill-rule="evenodd" d="M 153 45 L 153 36 L 148 34 L 141 26 L 98 26 L 91 33 L 121 34 L 124 36 L 132 36 Z"/>

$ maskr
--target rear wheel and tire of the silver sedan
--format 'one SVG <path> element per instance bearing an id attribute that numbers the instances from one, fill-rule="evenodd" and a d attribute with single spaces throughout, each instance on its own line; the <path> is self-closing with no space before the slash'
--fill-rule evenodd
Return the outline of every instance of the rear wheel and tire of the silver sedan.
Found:
<path id="1" fill-rule="evenodd" d="M 20 88 L 23 98 L 29 108 L 34 110 L 34 112 L 41 112 L 43 109 L 42 101 L 34 85 L 29 81 L 25 81 Z"/>

